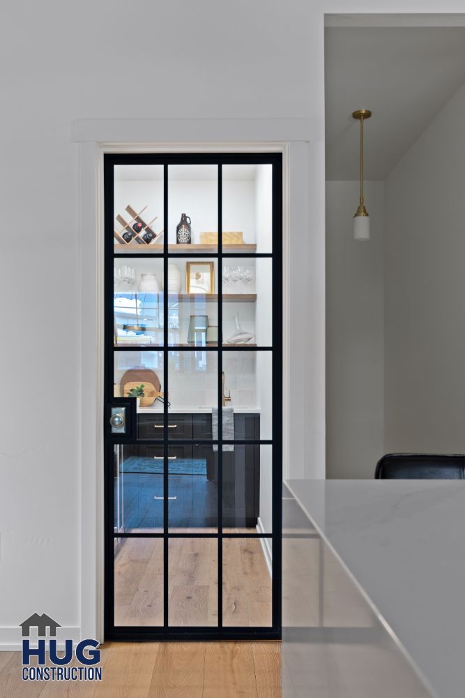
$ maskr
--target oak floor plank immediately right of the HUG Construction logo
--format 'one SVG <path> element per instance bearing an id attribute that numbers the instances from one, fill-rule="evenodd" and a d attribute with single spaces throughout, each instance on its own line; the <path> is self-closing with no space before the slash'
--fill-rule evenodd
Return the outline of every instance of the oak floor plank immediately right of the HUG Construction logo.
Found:
<path id="1" fill-rule="evenodd" d="M 159 642 L 112 644 L 93 698 L 147 698 Z"/>

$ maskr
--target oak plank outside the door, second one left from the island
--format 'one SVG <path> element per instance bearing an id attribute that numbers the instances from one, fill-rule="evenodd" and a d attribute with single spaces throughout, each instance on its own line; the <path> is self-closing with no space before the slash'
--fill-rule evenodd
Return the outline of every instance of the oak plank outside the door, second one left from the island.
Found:
<path id="1" fill-rule="evenodd" d="M 251 642 L 206 644 L 202 698 L 258 698 Z"/>

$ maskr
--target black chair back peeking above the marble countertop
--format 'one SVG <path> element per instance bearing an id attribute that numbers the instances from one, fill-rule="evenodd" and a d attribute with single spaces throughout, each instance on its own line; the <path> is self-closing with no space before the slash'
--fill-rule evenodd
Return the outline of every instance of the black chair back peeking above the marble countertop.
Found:
<path id="1" fill-rule="evenodd" d="M 465 455 L 388 453 L 376 464 L 377 480 L 465 480 Z"/>

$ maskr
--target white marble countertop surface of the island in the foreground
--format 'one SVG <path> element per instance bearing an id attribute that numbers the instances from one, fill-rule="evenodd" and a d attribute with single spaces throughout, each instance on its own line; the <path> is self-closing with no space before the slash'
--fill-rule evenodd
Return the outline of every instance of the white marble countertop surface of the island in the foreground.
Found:
<path id="1" fill-rule="evenodd" d="M 465 695 L 465 482 L 286 484 L 433 694 Z"/>

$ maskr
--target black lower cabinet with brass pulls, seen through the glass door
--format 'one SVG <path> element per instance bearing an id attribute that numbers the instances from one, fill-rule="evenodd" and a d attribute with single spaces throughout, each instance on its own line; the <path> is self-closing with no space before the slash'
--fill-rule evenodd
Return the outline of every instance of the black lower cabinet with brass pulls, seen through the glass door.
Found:
<path id="1" fill-rule="evenodd" d="M 139 440 L 162 438 L 163 415 L 138 415 Z M 218 526 L 218 447 L 196 439 L 211 440 L 209 414 L 170 414 L 169 436 L 193 443 L 172 445 L 168 449 L 169 528 Z M 154 428 L 156 427 L 156 428 Z M 237 440 L 260 438 L 260 415 L 234 415 Z M 163 457 L 163 447 L 138 445 L 139 456 Z M 260 447 L 224 445 L 222 453 L 222 518 L 228 528 L 257 525 L 260 507 Z"/>

